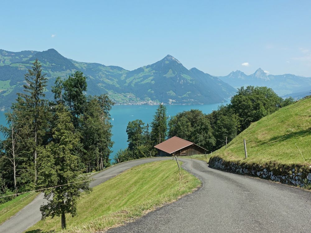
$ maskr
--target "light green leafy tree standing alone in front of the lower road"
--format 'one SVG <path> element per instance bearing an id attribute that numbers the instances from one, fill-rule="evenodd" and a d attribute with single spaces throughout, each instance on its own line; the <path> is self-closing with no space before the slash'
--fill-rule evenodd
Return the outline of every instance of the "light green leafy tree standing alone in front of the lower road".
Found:
<path id="1" fill-rule="evenodd" d="M 77 214 L 80 190 L 89 191 L 89 182 L 78 166 L 79 158 L 73 150 L 79 136 L 71 122 L 71 114 L 62 104 L 56 106 L 56 126 L 53 141 L 39 149 L 37 188 L 44 190 L 47 204 L 40 207 L 42 219 L 61 216 L 62 229 L 66 228 L 65 213 Z M 49 188 L 52 187 L 53 188 Z"/>

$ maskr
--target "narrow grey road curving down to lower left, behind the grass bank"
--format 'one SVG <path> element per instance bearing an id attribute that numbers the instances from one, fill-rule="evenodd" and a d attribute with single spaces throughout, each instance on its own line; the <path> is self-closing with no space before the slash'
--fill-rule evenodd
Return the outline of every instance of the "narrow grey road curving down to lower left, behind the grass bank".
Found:
<path id="1" fill-rule="evenodd" d="M 154 162 L 163 159 L 171 159 L 171 158 L 147 158 L 147 159 L 137 159 L 133 161 L 123 162 L 113 167 L 109 167 L 108 169 L 101 171 L 93 176 L 93 178 L 98 178 L 101 176 L 109 176 L 97 180 L 93 180 L 90 183 L 91 187 L 99 185 L 106 180 L 109 180 L 114 175 L 121 173 L 133 166 L 137 166 L 139 164 Z M 44 203 L 43 193 L 39 194 L 30 204 L 28 204 L 21 211 L 16 213 L 13 217 L 8 219 L 2 225 L 0 225 L 0 233 L 21 233 L 26 231 L 30 226 L 33 226 L 36 222 L 41 219 L 40 206 Z"/>

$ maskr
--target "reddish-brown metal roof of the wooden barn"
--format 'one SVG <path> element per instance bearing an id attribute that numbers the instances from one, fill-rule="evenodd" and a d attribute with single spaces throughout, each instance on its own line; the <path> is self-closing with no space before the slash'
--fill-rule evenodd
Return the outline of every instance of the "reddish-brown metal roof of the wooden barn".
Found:
<path id="1" fill-rule="evenodd" d="M 159 149 L 159 150 L 162 150 L 162 151 L 164 151 L 166 153 L 171 154 L 171 153 L 173 153 L 175 151 L 178 151 L 178 150 L 180 150 L 182 148 L 185 148 L 187 146 L 190 146 L 192 144 L 194 144 L 194 143 L 174 136 L 174 137 L 172 137 L 170 139 L 167 139 L 164 142 L 161 142 L 160 144 L 157 144 L 154 147 Z M 194 144 L 194 145 L 196 145 L 196 144 Z"/>

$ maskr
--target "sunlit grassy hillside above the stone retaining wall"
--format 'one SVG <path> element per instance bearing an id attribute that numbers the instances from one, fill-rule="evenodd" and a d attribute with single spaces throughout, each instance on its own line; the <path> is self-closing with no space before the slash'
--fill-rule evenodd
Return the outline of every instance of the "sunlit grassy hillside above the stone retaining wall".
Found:
<path id="1" fill-rule="evenodd" d="M 246 139 L 248 154 L 245 162 L 305 164 L 305 159 L 311 164 L 311 98 L 283 107 L 252 123 L 228 144 L 227 149 L 222 147 L 213 152 L 213 156 L 243 160 L 243 139 Z"/>

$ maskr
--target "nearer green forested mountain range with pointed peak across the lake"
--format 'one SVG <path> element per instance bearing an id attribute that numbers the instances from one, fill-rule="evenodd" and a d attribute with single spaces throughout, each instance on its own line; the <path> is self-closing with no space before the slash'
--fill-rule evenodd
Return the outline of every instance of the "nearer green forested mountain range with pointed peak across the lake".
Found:
<path id="1" fill-rule="evenodd" d="M 77 62 L 47 51 L 10 52 L 0 50 L 0 107 L 5 109 L 23 89 L 24 75 L 38 59 L 48 77 L 46 97 L 52 99 L 51 86 L 56 77 L 68 77 L 82 71 L 87 77 L 87 93 L 108 93 L 117 104 L 203 104 L 220 103 L 236 89 L 215 76 L 196 68 L 188 70 L 176 58 L 167 55 L 151 65 L 128 71 L 119 66 Z"/>

